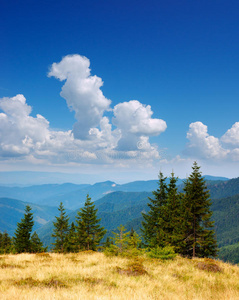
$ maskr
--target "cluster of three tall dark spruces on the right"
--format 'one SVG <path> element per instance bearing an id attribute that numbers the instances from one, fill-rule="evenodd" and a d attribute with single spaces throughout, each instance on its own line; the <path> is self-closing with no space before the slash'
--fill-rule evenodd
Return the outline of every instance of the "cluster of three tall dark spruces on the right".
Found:
<path id="1" fill-rule="evenodd" d="M 214 257 L 217 243 L 211 221 L 211 200 L 200 167 L 194 162 L 185 182 L 184 194 L 178 193 L 174 173 L 169 185 L 160 172 L 159 188 L 149 198 L 148 214 L 143 213 L 142 232 L 148 248 L 173 247 L 188 257 Z"/>

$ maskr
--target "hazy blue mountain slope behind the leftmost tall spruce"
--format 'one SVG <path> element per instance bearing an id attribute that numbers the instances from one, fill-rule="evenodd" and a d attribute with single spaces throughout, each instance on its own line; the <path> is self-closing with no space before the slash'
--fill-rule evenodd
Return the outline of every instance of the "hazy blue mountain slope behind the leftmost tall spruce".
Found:
<path id="1" fill-rule="evenodd" d="M 35 223 L 33 230 L 42 227 L 58 214 L 57 207 L 36 205 L 16 199 L 0 198 L 0 231 L 3 232 L 6 230 L 10 235 L 13 235 L 17 223 L 20 222 L 24 216 L 27 204 L 32 208 Z"/>

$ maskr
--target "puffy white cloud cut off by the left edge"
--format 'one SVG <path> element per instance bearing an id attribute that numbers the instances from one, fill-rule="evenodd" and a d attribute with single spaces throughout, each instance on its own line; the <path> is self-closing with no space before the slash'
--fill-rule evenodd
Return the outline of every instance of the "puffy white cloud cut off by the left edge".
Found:
<path id="1" fill-rule="evenodd" d="M 41 115 L 30 116 L 23 95 L 0 99 L 0 153 L 2 156 L 29 154 L 48 135 L 49 122 Z"/>

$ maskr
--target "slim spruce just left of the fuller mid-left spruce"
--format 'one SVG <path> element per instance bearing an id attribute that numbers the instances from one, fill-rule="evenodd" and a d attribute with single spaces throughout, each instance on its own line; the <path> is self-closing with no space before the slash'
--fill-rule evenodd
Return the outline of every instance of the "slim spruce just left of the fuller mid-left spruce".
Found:
<path id="1" fill-rule="evenodd" d="M 55 238 L 53 250 L 55 252 L 66 252 L 67 238 L 69 233 L 69 218 L 66 215 L 63 203 L 61 202 L 58 208 L 60 215 L 56 217 L 56 222 L 53 222 L 54 229 L 52 237 Z"/>

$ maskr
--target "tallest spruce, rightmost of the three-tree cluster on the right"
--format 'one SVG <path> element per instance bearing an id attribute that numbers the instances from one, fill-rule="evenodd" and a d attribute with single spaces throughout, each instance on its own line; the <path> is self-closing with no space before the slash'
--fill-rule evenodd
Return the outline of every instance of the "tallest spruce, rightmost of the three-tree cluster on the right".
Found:
<path id="1" fill-rule="evenodd" d="M 212 229 L 214 222 L 210 220 L 210 195 L 196 162 L 192 169 L 184 187 L 185 246 L 182 254 L 189 257 L 214 257 L 217 254 L 217 243 Z"/>

